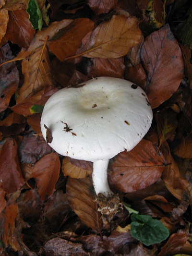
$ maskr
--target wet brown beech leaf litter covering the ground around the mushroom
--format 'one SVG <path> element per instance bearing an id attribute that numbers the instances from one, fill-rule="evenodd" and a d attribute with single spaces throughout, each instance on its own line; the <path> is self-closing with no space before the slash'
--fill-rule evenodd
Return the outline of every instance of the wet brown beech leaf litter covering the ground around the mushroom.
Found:
<path id="1" fill-rule="evenodd" d="M 1 3 L 2 256 L 192 255 L 192 65 L 182 45 L 189 20 L 178 2 L 49 0 L 41 31 L 29 23 L 27 1 Z M 132 209 L 168 228 L 161 243 L 133 238 L 123 207 L 102 216 L 92 163 L 63 158 L 42 137 L 48 98 L 97 76 L 130 80 L 149 98 L 152 126 L 132 151 L 110 160 L 108 182 Z"/>

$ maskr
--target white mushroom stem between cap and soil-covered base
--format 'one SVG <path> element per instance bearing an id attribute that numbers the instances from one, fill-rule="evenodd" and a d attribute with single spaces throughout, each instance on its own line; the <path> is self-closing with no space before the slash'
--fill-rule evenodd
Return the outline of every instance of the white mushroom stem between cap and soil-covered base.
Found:
<path id="1" fill-rule="evenodd" d="M 93 163 L 93 184 L 96 191 L 96 195 L 99 193 L 106 197 L 113 195 L 108 185 L 108 162 L 107 160 L 97 160 Z"/>

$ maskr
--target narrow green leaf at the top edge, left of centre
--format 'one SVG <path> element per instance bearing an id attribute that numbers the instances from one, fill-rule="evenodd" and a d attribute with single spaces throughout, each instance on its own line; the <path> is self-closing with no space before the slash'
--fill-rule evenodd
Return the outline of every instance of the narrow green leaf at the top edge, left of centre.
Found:
<path id="1" fill-rule="evenodd" d="M 29 0 L 26 12 L 29 13 L 29 21 L 32 24 L 33 29 L 41 30 L 43 19 L 36 0 Z"/>

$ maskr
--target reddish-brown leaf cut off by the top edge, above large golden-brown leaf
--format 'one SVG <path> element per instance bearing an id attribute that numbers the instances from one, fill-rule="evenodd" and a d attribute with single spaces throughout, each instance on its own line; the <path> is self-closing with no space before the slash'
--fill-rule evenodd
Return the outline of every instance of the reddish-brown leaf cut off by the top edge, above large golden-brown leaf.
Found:
<path id="1" fill-rule="evenodd" d="M 89 7 L 96 12 L 96 14 L 108 13 L 117 4 L 117 0 L 88 0 L 87 4 Z"/>

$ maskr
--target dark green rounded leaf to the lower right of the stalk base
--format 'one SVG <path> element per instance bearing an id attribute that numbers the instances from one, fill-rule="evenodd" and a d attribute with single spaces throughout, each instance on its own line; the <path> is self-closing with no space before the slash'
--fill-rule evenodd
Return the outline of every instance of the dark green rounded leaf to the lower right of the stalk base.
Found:
<path id="1" fill-rule="evenodd" d="M 145 245 L 161 243 L 169 236 L 168 229 L 157 219 L 148 215 L 131 216 L 131 235 Z"/>

